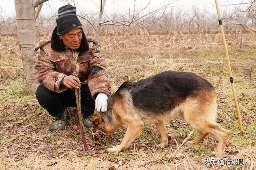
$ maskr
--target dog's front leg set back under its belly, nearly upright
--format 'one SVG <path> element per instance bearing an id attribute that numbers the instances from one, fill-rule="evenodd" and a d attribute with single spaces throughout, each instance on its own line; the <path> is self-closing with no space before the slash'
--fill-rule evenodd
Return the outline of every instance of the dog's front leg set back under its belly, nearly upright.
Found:
<path id="1" fill-rule="evenodd" d="M 155 122 L 156 125 L 156 129 L 158 130 L 158 132 L 161 135 L 161 143 L 159 145 L 157 145 L 157 148 L 164 148 L 167 147 L 168 145 L 168 137 L 167 137 L 167 131 L 166 131 L 166 127 L 165 127 L 165 122 L 164 121 L 157 121 Z"/>

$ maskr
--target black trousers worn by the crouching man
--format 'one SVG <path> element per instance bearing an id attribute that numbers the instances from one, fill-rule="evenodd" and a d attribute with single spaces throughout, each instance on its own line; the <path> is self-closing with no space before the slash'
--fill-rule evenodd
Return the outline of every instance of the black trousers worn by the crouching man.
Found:
<path id="1" fill-rule="evenodd" d="M 68 106 L 76 106 L 76 95 L 74 89 L 68 89 L 62 93 L 55 93 L 39 85 L 36 90 L 36 98 L 39 104 L 46 109 L 50 115 L 56 117 L 63 113 Z M 81 85 L 81 112 L 84 116 L 92 115 L 95 101 L 92 99 L 88 84 Z"/>

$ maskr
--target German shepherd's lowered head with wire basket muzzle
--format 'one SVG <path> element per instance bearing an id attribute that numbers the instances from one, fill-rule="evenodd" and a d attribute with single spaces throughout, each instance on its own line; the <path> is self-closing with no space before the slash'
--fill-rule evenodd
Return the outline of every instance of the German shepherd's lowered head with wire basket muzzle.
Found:
<path id="1" fill-rule="evenodd" d="M 92 141 L 102 141 L 105 142 L 108 137 L 110 136 L 106 131 L 104 127 L 105 123 L 102 120 L 102 117 L 100 113 L 97 110 L 94 110 L 94 113 L 92 115 L 92 127 L 93 127 L 93 132 L 92 132 Z"/>

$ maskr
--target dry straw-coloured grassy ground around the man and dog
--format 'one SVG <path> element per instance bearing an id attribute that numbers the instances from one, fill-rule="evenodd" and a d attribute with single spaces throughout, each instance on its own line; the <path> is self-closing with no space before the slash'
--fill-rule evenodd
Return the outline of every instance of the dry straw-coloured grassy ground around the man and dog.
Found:
<path id="1" fill-rule="evenodd" d="M 229 129 L 226 153 L 214 156 L 217 139 L 209 135 L 198 145 L 181 145 L 194 130 L 179 118 L 168 121 L 169 145 L 156 150 L 160 142 L 154 125 L 146 125 L 128 150 L 104 151 L 120 143 L 126 127 L 112 135 L 109 143 L 84 151 L 74 109 L 66 129 L 52 131 L 52 117 L 35 96 L 21 93 L 22 64 L 13 37 L 0 41 L 0 169 L 255 169 L 256 168 L 256 36 L 226 35 L 234 83 L 245 133 L 238 133 L 236 109 L 228 79 L 220 35 L 128 35 L 102 37 L 101 53 L 108 60 L 112 91 L 125 80 L 138 80 L 165 70 L 190 71 L 216 87 L 218 123 Z M 251 71 L 252 70 L 252 71 Z M 89 134 L 89 129 L 85 129 Z M 196 136 L 194 131 L 188 140 Z M 58 143 L 57 143 L 58 142 Z M 250 164 L 204 165 L 204 158 L 244 158 Z"/>

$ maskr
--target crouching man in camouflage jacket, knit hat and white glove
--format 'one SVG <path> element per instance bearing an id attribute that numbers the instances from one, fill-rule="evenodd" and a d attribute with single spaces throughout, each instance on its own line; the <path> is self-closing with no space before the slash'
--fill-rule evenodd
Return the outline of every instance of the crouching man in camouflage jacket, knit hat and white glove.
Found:
<path id="1" fill-rule="evenodd" d="M 81 112 L 84 125 L 91 127 L 94 109 L 107 111 L 110 77 L 98 42 L 86 38 L 76 16 L 76 7 L 58 10 L 57 26 L 35 47 L 40 55 L 34 74 L 40 85 L 36 90 L 39 104 L 55 117 L 53 129 L 66 125 L 68 106 L 76 106 L 75 88 L 81 85 Z"/>

